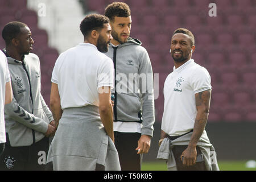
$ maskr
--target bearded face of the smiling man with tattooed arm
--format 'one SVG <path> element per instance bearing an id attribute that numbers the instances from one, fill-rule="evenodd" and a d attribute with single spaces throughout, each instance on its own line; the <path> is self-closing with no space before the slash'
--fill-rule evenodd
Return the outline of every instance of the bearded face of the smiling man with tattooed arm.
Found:
<path id="1" fill-rule="evenodd" d="M 176 62 L 188 61 L 191 59 L 192 50 L 191 39 L 188 35 L 177 33 L 172 36 L 171 55 Z"/>

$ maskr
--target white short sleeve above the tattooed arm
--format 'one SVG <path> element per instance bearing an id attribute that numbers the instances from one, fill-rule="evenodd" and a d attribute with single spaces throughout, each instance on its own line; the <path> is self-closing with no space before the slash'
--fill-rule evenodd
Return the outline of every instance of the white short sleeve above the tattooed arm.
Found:
<path id="1" fill-rule="evenodd" d="M 209 72 L 204 67 L 197 68 L 191 79 L 191 86 L 195 94 L 212 89 Z"/>

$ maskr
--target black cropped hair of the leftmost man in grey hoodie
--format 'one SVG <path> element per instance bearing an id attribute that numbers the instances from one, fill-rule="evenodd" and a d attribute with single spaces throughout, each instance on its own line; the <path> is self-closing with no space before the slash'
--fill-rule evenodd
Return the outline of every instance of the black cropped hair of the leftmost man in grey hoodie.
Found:
<path id="1" fill-rule="evenodd" d="M 3 27 L 2 38 L 5 40 L 6 46 L 10 45 L 12 39 L 17 38 L 20 28 L 24 27 L 27 27 L 27 24 L 22 22 L 9 22 Z"/>

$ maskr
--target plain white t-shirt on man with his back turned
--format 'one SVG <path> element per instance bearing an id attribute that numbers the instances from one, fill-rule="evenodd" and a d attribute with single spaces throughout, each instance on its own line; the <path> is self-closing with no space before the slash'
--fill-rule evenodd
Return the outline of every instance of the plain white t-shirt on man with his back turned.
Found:
<path id="1" fill-rule="evenodd" d="M 113 88 L 113 61 L 97 47 L 80 43 L 60 54 L 52 72 L 52 82 L 58 84 L 61 109 L 99 106 L 98 88 Z"/>

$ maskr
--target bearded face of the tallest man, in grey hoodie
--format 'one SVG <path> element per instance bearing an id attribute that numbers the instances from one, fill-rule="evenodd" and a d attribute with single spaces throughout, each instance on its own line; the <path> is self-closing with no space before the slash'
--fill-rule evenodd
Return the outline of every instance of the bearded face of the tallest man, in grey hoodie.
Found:
<path id="1" fill-rule="evenodd" d="M 112 36 L 115 42 L 120 44 L 126 43 L 131 31 L 131 16 L 118 17 L 115 16 L 111 22 Z"/>

